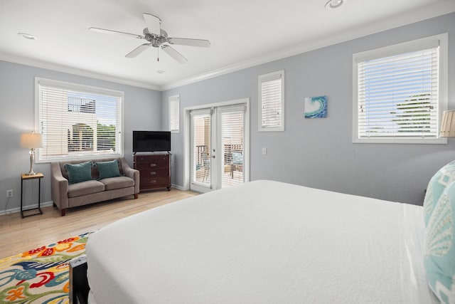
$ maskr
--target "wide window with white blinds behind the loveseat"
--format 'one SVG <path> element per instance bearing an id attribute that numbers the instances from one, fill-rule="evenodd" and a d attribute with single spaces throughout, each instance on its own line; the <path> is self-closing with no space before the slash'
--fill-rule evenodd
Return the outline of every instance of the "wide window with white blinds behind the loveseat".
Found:
<path id="1" fill-rule="evenodd" d="M 123 92 L 35 79 L 38 162 L 123 156 Z"/>

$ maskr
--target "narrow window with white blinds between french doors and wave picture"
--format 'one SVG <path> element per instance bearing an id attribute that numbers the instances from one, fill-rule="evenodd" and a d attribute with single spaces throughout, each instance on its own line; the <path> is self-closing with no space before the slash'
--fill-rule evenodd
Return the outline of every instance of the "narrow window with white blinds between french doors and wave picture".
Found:
<path id="1" fill-rule="evenodd" d="M 284 131 L 284 70 L 259 75 L 259 131 Z"/>

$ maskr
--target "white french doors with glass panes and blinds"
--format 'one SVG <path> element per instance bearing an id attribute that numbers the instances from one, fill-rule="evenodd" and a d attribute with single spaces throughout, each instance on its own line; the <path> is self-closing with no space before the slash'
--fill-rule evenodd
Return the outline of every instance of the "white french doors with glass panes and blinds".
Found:
<path id="1" fill-rule="evenodd" d="M 208 192 L 248 178 L 247 106 L 190 111 L 190 189 Z"/>

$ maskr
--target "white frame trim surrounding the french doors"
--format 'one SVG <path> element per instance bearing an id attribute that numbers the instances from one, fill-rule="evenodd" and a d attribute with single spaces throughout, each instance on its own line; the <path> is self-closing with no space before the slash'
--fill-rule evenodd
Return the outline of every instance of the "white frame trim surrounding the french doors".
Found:
<path id="1" fill-rule="evenodd" d="M 242 98 L 237 100 L 229 100 L 220 103 L 210 103 L 207 105 L 198 105 L 183 108 L 183 189 L 188 190 L 190 189 L 191 183 L 191 116 L 190 112 L 193 110 L 202 110 L 208 108 L 221 108 L 230 105 L 243 105 L 245 106 L 245 144 L 244 144 L 244 159 L 243 159 L 243 170 L 245 174 L 245 182 L 250 181 L 250 98 Z M 216 115 L 213 115 L 216 116 Z M 216 120 L 216 117 L 215 117 Z M 218 135 L 215 135 L 218 136 Z M 212 138 L 212 140 L 214 140 Z M 215 139 L 216 140 L 216 139 Z M 218 167 L 218 158 L 220 156 L 220 147 L 218 147 L 220 142 L 212 141 L 212 152 L 213 147 L 215 147 L 215 163 L 217 165 L 213 165 L 210 167 Z M 219 171 L 219 170 L 218 170 Z M 213 172 L 213 174 L 217 174 Z M 210 190 L 220 188 L 221 182 L 214 185 Z"/>

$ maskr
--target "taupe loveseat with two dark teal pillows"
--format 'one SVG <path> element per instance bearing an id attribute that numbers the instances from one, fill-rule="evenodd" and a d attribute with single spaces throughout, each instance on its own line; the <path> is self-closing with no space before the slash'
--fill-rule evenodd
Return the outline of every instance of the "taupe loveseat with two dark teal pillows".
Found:
<path id="1" fill-rule="evenodd" d="M 139 171 L 123 157 L 50 164 L 53 204 L 64 216 L 66 209 L 139 194 Z"/>

